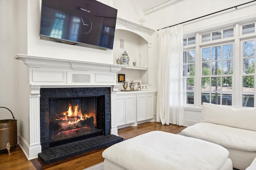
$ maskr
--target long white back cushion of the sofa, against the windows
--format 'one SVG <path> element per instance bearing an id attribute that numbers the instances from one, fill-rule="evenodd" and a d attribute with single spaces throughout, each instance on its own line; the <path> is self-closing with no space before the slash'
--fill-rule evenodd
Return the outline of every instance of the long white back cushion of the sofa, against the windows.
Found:
<path id="1" fill-rule="evenodd" d="M 202 122 L 256 131 L 255 107 L 230 107 L 203 103 Z"/>

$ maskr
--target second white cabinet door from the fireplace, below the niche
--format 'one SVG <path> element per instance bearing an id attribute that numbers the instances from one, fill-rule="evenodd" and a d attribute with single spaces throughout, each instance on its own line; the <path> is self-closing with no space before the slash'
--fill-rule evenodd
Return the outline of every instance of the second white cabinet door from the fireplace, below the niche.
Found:
<path id="1" fill-rule="evenodd" d="M 126 124 L 136 121 L 136 96 L 125 97 L 125 122 Z"/>

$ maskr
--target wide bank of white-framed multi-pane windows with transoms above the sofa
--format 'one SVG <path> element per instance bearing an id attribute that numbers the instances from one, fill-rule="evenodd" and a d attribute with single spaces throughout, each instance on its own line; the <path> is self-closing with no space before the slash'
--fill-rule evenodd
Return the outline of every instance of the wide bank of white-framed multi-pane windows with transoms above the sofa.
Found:
<path id="1" fill-rule="evenodd" d="M 255 106 L 254 25 L 237 23 L 183 39 L 184 104 Z"/>

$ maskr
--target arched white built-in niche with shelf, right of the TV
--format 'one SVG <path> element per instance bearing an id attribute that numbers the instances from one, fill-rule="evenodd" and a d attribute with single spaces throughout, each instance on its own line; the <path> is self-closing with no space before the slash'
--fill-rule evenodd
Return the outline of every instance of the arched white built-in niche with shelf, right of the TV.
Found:
<path id="1" fill-rule="evenodd" d="M 125 74 L 125 79 L 128 82 L 141 80 L 142 84 L 149 84 L 148 72 L 150 68 L 148 68 L 148 59 L 151 55 L 149 42 L 138 33 L 116 29 L 113 48 L 114 64 L 116 64 L 116 59 L 121 59 L 124 51 L 128 53 L 129 65 L 123 67 L 118 74 Z M 136 62 L 136 66 L 133 66 L 133 62 Z M 122 83 L 119 84 L 118 90 L 120 91 L 123 88 Z"/>

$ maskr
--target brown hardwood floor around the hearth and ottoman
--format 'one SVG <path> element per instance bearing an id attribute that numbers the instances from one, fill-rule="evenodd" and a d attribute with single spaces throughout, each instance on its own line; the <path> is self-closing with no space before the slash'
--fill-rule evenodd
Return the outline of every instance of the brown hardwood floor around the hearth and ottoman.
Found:
<path id="1" fill-rule="evenodd" d="M 180 133 L 186 127 L 178 125 L 162 125 L 161 123 L 148 122 L 135 127 L 125 127 L 118 129 L 118 135 L 124 139 L 129 139 L 137 135 L 150 131 L 165 131 L 170 133 Z M 83 170 L 90 166 L 104 161 L 102 158 L 103 149 L 80 154 L 66 160 L 44 165 L 36 158 L 27 160 L 22 149 L 17 146 L 12 148 L 12 155 L 8 156 L 6 149 L 0 150 L 0 170 Z"/>

